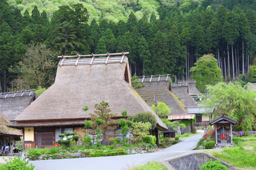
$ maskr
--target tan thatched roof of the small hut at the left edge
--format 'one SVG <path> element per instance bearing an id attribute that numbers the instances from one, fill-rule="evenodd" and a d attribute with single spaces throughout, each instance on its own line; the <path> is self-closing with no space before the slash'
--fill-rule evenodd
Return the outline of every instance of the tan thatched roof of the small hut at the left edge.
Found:
<path id="1" fill-rule="evenodd" d="M 7 125 L 12 124 L 6 119 L 2 111 L 0 111 L 0 135 L 18 135 L 22 136 L 22 132 L 18 129 L 7 127 Z"/>

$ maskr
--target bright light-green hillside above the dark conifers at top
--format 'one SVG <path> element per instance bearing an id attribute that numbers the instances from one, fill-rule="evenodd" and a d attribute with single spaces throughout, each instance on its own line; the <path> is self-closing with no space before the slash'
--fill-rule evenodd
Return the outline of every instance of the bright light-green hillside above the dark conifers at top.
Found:
<path id="1" fill-rule="evenodd" d="M 150 17 L 152 12 L 158 14 L 156 10 L 159 7 L 159 3 L 155 0 L 8 0 L 7 2 L 10 6 L 20 9 L 22 14 L 26 9 L 31 14 L 34 6 L 37 6 L 40 13 L 46 11 L 48 18 L 52 18 L 53 12 L 57 11 L 59 6 L 80 3 L 87 8 L 89 21 L 102 17 L 114 22 L 127 20 L 130 12 L 134 12 L 138 19 L 142 18 L 143 14 Z"/>

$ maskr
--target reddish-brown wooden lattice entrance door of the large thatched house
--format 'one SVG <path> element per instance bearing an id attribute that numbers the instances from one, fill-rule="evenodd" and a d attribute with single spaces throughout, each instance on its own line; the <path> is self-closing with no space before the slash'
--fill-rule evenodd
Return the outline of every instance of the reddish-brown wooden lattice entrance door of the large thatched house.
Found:
<path id="1" fill-rule="evenodd" d="M 52 132 L 40 132 L 36 133 L 36 147 L 38 148 L 50 148 L 53 145 L 53 133 Z"/>

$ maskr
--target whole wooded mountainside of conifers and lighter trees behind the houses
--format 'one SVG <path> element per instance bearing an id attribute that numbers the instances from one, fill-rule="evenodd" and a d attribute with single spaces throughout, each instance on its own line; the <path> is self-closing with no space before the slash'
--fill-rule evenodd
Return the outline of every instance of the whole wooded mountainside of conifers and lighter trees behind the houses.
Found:
<path id="1" fill-rule="evenodd" d="M 57 55 L 122 51 L 132 75 L 190 80 L 211 53 L 224 81 L 256 80 L 254 0 L 102 1 L 113 10 L 100 2 L 1 0 L 0 91 L 48 88 Z"/>

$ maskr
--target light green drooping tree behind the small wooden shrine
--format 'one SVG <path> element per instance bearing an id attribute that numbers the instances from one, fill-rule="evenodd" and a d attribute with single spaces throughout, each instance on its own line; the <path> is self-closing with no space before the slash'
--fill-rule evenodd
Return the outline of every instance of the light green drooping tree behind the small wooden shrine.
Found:
<path id="1" fill-rule="evenodd" d="M 208 85 L 206 90 L 208 95 L 203 97 L 202 105 L 215 108 L 215 118 L 225 114 L 238 121 L 239 130 L 252 130 L 256 122 L 256 92 L 246 91 L 239 83 L 232 82 Z"/>

